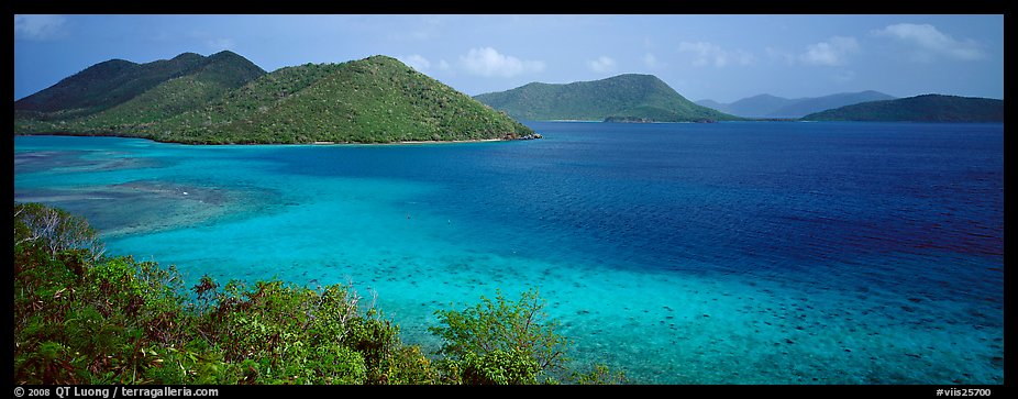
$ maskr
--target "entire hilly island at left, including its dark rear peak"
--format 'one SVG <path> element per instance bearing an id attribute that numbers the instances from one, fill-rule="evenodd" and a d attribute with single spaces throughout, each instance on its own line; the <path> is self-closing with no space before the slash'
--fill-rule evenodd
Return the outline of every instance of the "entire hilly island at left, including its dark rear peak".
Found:
<path id="1" fill-rule="evenodd" d="M 232 52 L 93 65 L 15 101 L 14 133 L 189 144 L 540 137 L 396 58 L 378 55 L 266 73 Z"/>

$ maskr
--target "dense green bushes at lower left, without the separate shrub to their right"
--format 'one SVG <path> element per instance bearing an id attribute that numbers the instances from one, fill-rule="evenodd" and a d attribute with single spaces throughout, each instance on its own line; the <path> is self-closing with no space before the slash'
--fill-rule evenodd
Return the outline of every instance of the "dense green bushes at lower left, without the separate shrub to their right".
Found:
<path id="1" fill-rule="evenodd" d="M 204 277 L 190 297 L 173 267 L 92 256 L 81 241 L 37 234 L 41 215 L 84 221 L 14 206 L 18 384 L 438 381 L 399 329 L 346 287 L 220 287 Z"/>

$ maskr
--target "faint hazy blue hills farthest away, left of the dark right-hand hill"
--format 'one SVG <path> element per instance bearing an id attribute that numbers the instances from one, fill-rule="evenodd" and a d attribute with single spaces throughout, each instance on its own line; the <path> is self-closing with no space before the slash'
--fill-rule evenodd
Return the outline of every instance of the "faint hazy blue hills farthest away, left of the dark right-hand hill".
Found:
<path id="1" fill-rule="evenodd" d="M 895 97 L 879 91 L 841 92 L 822 97 L 788 99 L 771 95 L 748 97 L 732 103 L 699 100 L 697 104 L 721 112 L 754 119 L 798 119 L 810 113 L 826 111 L 860 102 L 894 100 Z"/>

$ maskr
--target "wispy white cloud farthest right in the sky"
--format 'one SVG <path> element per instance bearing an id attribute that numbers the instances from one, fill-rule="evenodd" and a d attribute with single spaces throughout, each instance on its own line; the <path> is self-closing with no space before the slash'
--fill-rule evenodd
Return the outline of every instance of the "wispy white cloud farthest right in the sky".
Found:
<path id="1" fill-rule="evenodd" d="M 959 41 L 930 24 L 899 23 L 887 25 L 887 27 L 871 33 L 877 37 L 892 37 L 917 47 L 916 52 L 911 54 L 915 60 L 930 62 L 933 60 L 934 55 L 961 60 L 986 57 L 977 42 L 972 40 Z"/>

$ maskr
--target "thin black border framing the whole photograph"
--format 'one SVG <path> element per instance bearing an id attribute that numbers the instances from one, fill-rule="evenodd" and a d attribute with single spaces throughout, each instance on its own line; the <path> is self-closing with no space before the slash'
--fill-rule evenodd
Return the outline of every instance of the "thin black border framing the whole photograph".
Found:
<path id="1" fill-rule="evenodd" d="M 265 0 L 170 0 L 170 1 L 66 1 L 66 0 L 12 0 L 9 2 L 12 14 L 19 13 L 69 13 L 69 14 L 299 14 L 299 13 L 336 13 L 336 14 L 1003 14 L 1005 16 L 1005 37 L 1011 37 L 1009 32 L 1013 30 L 1008 26 L 1010 15 L 1010 0 L 887 0 L 887 1 L 825 1 L 825 0 L 656 0 L 644 2 L 621 2 L 621 1 L 586 1 L 582 7 L 573 3 L 550 3 L 545 1 L 514 0 L 510 7 L 493 7 L 490 3 L 483 2 L 449 2 L 449 1 L 343 1 L 343 0 L 285 0 L 285 1 L 265 1 Z M 499 4 L 507 4 L 499 2 Z M 12 31 L 9 31 L 12 32 Z M 1005 65 L 1009 58 L 1007 47 L 1005 47 Z M 1007 79 L 1005 79 L 1007 81 Z M 1007 93 L 1005 87 L 1005 97 Z M 1005 185 L 1007 176 L 1015 176 L 1009 173 L 1007 162 L 1008 138 L 1007 115 L 1005 113 Z M 12 142 L 9 142 L 12 145 Z M 11 148 L 13 149 L 13 148 Z M 12 152 L 8 152 L 12 154 Z M 12 176 L 12 175 L 9 175 Z M 13 190 L 13 181 L 8 186 Z M 1005 196 L 1006 198 L 1006 196 Z M 1005 206 L 1005 219 L 1009 213 Z M 1005 247 L 1011 247 L 1005 228 Z M 1009 257 L 1005 256 L 1005 264 Z M 1013 278 L 1006 271 L 1005 266 L 1005 337 L 1008 332 L 1014 331 L 1009 318 L 1011 298 L 1008 298 L 1007 290 L 1010 287 Z M 9 302 L 10 304 L 10 302 Z M 1014 345 L 1005 345 L 1005 358 L 1013 351 Z M 13 348 L 9 348 L 13 351 Z M 13 353 L 11 352 L 11 355 Z M 13 358 L 13 357 L 11 357 Z M 13 364 L 10 365 L 13 372 Z M 554 394 L 561 389 L 564 394 L 587 394 L 595 396 L 624 394 L 635 389 L 649 389 L 646 394 L 651 395 L 675 395 L 675 396 L 792 396 L 808 395 L 811 397 L 831 396 L 859 396 L 859 395 L 878 395 L 882 397 L 930 397 L 936 398 L 937 389 L 991 389 L 992 397 L 1002 397 L 1010 391 L 1014 385 L 1014 367 L 1005 366 L 1005 379 L 1003 385 L 994 386 L 956 386 L 956 385 L 710 385 L 710 386 L 654 386 L 654 385 L 623 385 L 623 386 L 600 386 L 600 387 L 499 387 L 500 392 L 527 392 L 534 389 L 535 392 Z M 9 374 L 13 375 L 13 374 Z M 29 388 L 30 386 L 23 386 Z M 36 388 L 55 388 L 55 386 L 31 386 Z M 112 386 L 110 386 L 112 387 Z M 453 395 L 477 395 L 490 392 L 487 387 L 422 387 L 422 386 L 389 386 L 389 387 L 364 387 L 364 386 L 174 386 L 176 388 L 217 388 L 219 396 L 217 398 L 251 398 L 270 395 L 274 397 L 297 395 L 339 395 L 345 396 L 356 394 L 358 389 L 370 389 L 370 392 L 380 392 L 386 389 L 392 392 L 399 392 L 401 389 L 412 389 L 413 391 L 423 391 L 428 394 L 453 394 Z M 16 386 L 15 386 L 16 388 Z M 96 387 L 101 388 L 101 386 Z M 536 390 L 540 389 L 540 390 Z M 595 390 L 596 389 L 596 390 Z M 612 391 L 615 389 L 626 389 L 626 391 Z M 52 389 L 51 392 L 54 392 Z M 16 398 L 16 396 L 13 396 Z M 56 397 L 52 395 L 51 397 Z M 945 397 L 947 398 L 947 397 Z"/>

